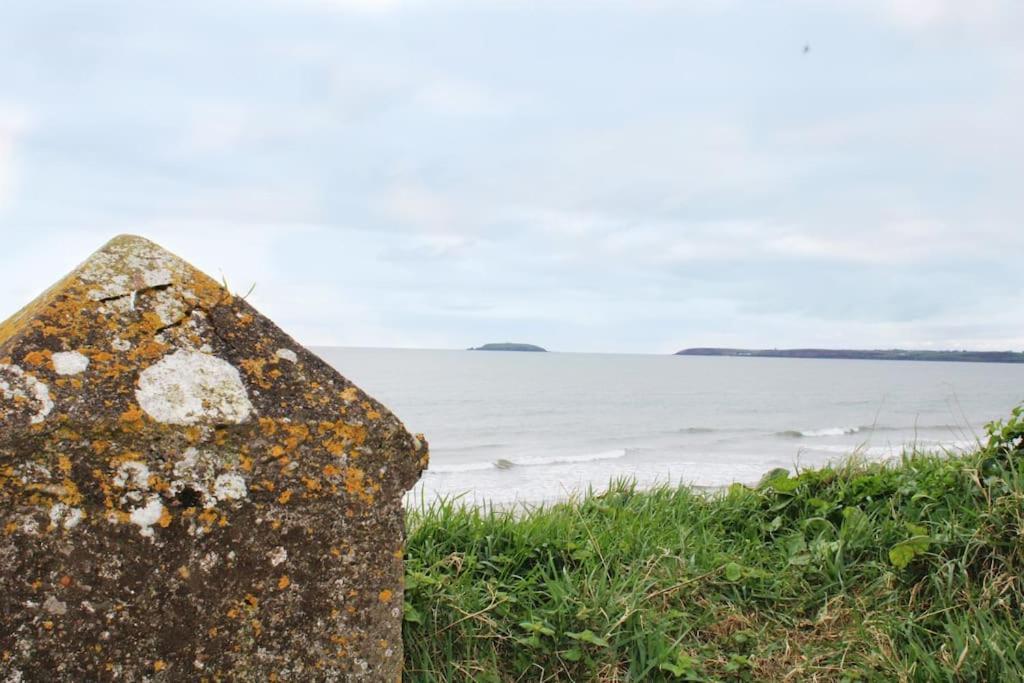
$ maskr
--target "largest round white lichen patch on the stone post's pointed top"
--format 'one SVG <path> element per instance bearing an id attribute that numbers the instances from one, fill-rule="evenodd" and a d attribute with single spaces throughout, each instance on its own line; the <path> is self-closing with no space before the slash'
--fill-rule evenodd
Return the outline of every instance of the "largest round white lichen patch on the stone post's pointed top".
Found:
<path id="1" fill-rule="evenodd" d="M 143 370 L 135 398 L 154 420 L 172 425 L 241 423 L 253 410 L 234 366 L 188 349 Z"/>

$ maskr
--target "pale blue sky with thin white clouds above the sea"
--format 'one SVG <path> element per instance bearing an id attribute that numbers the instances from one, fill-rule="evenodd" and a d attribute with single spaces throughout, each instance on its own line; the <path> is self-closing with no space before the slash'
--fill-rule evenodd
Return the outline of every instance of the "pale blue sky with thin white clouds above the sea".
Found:
<path id="1" fill-rule="evenodd" d="M 4 0 L 0 318 L 132 232 L 307 345 L 1021 350 L 1021 27 L 1019 0 Z"/>

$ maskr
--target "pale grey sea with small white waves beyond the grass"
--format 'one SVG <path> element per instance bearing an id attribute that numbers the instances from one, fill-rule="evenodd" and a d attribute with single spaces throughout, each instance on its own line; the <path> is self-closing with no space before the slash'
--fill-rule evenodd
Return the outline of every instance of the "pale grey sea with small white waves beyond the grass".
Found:
<path id="1" fill-rule="evenodd" d="M 313 349 L 430 442 L 409 502 L 540 502 L 616 477 L 721 486 L 768 470 L 955 451 L 1024 401 L 1024 365 Z"/>

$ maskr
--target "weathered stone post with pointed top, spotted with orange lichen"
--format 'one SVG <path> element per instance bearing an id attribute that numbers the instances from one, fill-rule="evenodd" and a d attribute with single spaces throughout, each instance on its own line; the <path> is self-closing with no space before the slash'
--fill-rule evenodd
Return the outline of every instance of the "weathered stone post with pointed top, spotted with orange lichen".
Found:
<path id="1" fill-rule="evenodd" d="M 422 437 L 113 240 L 0 325 L 0 680 L 394 681 Z"/>

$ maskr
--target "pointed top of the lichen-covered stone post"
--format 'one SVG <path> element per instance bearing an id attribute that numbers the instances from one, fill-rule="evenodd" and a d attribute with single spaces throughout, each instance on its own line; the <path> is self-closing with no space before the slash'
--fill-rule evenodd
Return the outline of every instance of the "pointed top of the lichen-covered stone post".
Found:
<path id="1" fill-rule="evenodd" d="M 0 324 L 0 430 L 342 417 L 415 441 L 244 299 L 144 238 L 114 238 Z"/>

